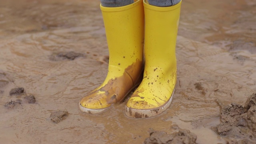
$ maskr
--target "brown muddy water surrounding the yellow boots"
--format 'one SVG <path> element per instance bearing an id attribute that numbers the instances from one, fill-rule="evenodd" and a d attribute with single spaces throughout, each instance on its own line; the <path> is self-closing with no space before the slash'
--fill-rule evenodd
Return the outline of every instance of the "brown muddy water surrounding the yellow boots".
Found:
<path id="1" fill-rule="evenodd" d="M 256 90 L 256 1 L 183 0 L 177 38 L 178 84 L 166 112 L 148 119 L 102 114 L 78 101 L 99 86 L 108 48 L 98 0 L 0 0 L 0 141 L 5 144 L 142 144 L 150 128 L 177 127 L 199 144 L 225 143 L 210 127 L 220 104 L 244 105 Z M 77 52 L 69 60 L 58 52 Z M 63 55 L 63 54 L 62 54 Z M 10 96 L 12 88 L 24 93 Z M 35 103 L 24 102 L 34 95 Z M 21 99 L 13 107 L 6 102 Z M 58 124 L 51 112 L 67 110 Z"/>

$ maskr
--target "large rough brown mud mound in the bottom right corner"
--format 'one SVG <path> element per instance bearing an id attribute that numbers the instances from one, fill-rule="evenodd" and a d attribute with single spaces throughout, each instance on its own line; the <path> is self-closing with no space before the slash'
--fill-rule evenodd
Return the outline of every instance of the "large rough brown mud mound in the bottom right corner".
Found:
<path id="1" fill-rule="evenodd" d="M 256 93 L 248 98 L 244 107 L 236 103 L 224 106 L 220 114 L 220 124 L 212 127 L 212 130 L 220 136 L 226 136 L 227 144 L 255 144 Z"/>

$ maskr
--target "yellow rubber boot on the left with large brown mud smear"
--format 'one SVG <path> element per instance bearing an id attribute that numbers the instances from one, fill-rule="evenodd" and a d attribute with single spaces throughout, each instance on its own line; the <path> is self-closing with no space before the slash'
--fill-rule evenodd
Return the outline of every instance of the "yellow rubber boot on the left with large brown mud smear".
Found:
<path id="1" fill-rule="evenodd" d="M 109 50 L 104 82 L 79 102 L 83 112 L 95 114 L 122 101 L 142 80 L 144 8 L 142 0 L 122 7 L 103 7 L 102 16 Z"/>

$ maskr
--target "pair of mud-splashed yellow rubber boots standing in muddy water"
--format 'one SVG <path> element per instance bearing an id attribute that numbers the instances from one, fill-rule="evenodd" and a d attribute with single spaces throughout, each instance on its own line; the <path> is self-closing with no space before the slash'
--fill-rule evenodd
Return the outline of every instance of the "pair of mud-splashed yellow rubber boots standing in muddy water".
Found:
<path id="1" fill-rule="evenodd" d="M 108 75 L 80 100 L 83 112 L 102 112 L 139 84 L 126 104 L 128 117 L 156 116 L 170 106 L 176 85 L 180 5 L 157 7 L 135 0 L 122 7 L 100 6 L 109 50 Z"/>

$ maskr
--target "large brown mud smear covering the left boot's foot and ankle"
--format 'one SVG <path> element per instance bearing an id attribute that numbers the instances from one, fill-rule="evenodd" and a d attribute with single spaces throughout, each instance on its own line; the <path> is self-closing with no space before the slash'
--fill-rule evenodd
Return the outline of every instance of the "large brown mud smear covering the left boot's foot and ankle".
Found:
<path id="1" fill-rule="evenodd" d="M 82 98 L 80 104 L 86 108 L 95 104 L 95 109 L 101 109 L 108 108 L 113 103 L 122 102 L 136 84 L 141 82 L 142 69 L 142 61 L 137 60 L 124 70 L 122 76 L 108 80 L 106 85 Z"/>

